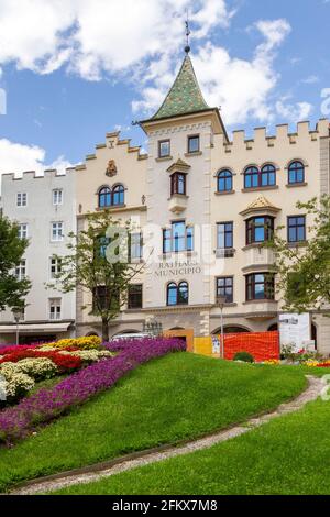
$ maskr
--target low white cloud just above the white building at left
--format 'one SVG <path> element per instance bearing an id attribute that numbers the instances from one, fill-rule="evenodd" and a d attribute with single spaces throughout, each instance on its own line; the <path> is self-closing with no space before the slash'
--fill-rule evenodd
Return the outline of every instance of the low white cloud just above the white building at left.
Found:
<path id="1" fill-rule="evenodd" d="M 46 168 L 57 168 L 63 174 L 66 167 L 72 166 L 63 156 L 51 164 L 45 158 L 46 152 L 42 147 L 0 140 L 0 177 L 1 174 L 20 175 L 26 170 L 35 170 L 41 175 Z"/>

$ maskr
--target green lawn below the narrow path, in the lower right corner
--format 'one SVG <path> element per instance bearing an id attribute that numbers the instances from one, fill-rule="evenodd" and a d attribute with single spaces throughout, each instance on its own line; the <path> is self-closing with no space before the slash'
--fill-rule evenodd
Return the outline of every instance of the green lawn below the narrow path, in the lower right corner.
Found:
<path id="1" fill-rule="evenodd" d="M 58 494 L 329 495 L 330 403 L 310 403 L 211 449 Z"/>

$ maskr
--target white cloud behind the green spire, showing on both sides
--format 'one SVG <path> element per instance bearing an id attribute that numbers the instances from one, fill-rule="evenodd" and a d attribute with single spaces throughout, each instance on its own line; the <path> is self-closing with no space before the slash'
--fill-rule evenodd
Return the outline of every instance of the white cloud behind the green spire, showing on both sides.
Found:
<path id="1" fill-rule="evenodd" d="M 244 123 L 250 117 L 272 121 L 275 113 L 270 102 L 278 75 L 274 69 L 276 50 L 290 32 L 286 20 L 258 21 L 254 25 L 263 36 L 251 61 L 232 57 L 219 46 L 206 43 L 194 56 L 199 84 L 209 106 L 221 106 L 224 122 Z M 153 85 L 143 89 L 143 99 L 133 102 L 133 110 L 153 111 L 172 85 L 175 74 L 169 73 L 170 61 L 152 64 Z M 176 69 L 177 73 L 177 69 Z"/>

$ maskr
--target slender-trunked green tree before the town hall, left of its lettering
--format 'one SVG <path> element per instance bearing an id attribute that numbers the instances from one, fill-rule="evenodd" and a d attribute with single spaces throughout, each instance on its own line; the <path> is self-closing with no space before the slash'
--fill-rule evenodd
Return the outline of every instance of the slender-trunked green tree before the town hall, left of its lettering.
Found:
<path id="1" fill-rule="evenodd" d="M 127 302 L 130 283 L 144 267 L 140 260 L 138 264 L 129 261 L 133 231 L 129 221 L 113 220 L 109 210 L 89 213 L 87 229 L 68 235 L 72 253 L 56 256 L 61 265 L 56 288 L 69 293 L 79 286 L 89 294 L 92 301 L 81 308 L 89 307 L 90 315 L 101 318 L 103 341 L 109 340 L 110 322 Z"/>

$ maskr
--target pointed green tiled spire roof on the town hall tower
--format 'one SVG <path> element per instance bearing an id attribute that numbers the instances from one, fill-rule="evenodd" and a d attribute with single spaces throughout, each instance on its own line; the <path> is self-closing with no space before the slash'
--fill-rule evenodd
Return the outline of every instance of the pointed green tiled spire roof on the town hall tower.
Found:
<path id="1" fill-rule="evenodd" d="M 210 109 L 200 91 L 193 63 L 187 55 L 166 99 L 152 120 Z"/>

